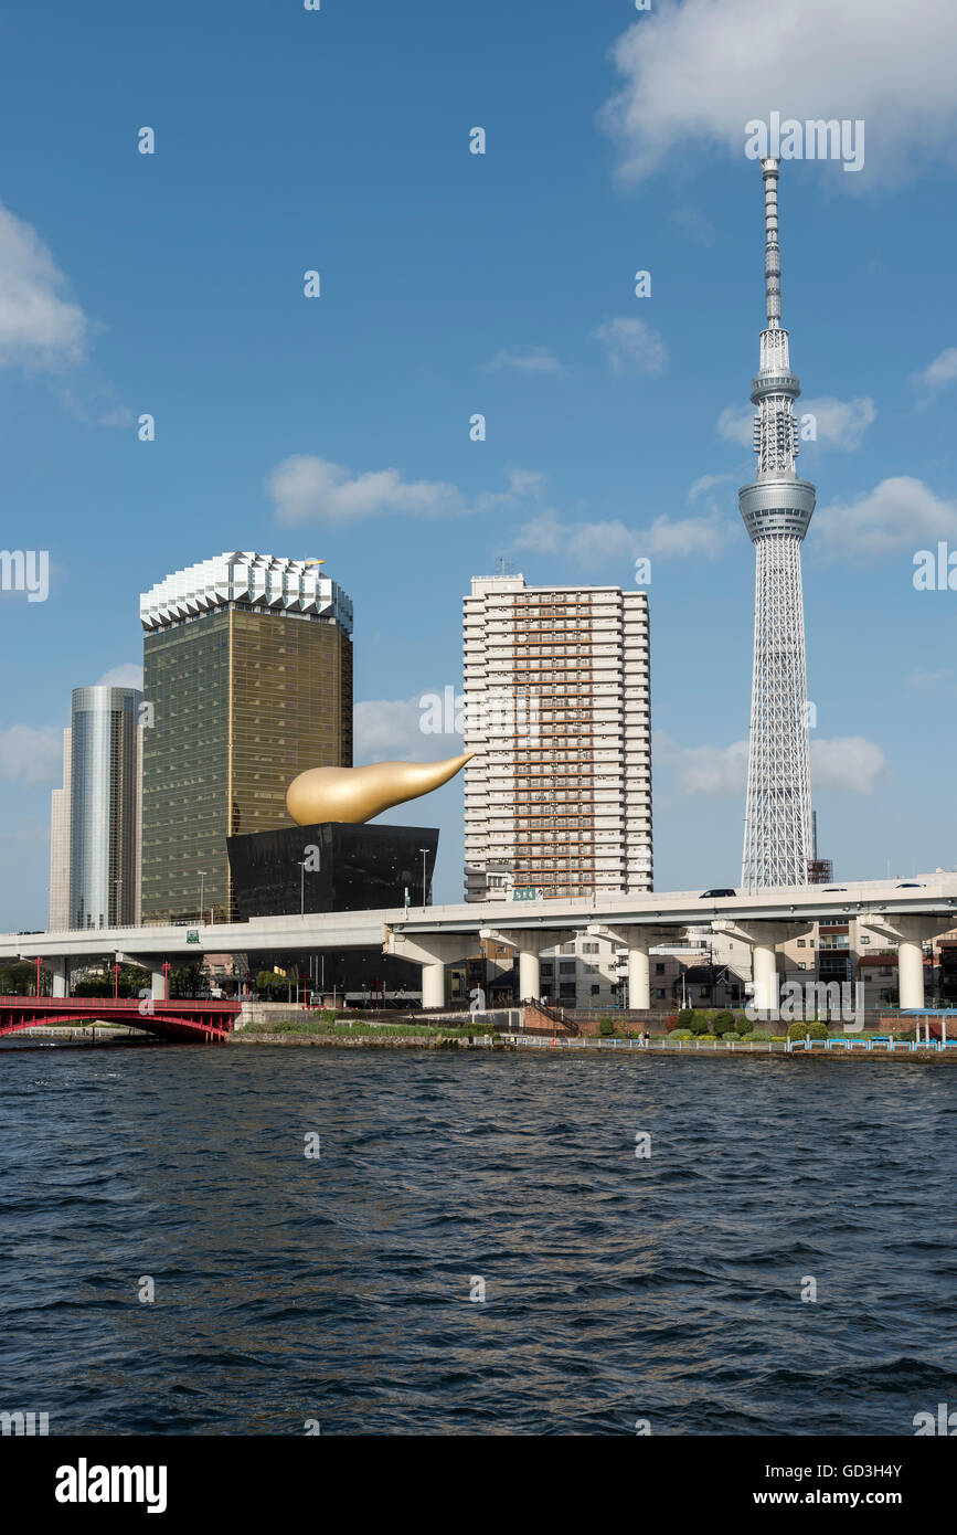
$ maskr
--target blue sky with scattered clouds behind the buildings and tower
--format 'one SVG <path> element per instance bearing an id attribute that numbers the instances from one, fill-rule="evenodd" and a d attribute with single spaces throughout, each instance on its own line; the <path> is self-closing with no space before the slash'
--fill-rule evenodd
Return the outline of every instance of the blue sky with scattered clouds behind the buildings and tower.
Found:
<path id="1" fill-rule="evenodd" d="M 771 112 L 865 124 L 781 173 L 819 852 L 957 867 L 955 55 L 952 0 L 8 0 L 3 543 L 49 593 L 0 591 L 0 927 L 46 926 L 71 689 L 135 682 L 140 593 L 225 550 L 353 597 L 357 763 L 459 751 L 422 698 L 472 576 L 649 559 L 655 884 L 736 884 Z M 460 781 L 428 821 L 459 900 Z"/>

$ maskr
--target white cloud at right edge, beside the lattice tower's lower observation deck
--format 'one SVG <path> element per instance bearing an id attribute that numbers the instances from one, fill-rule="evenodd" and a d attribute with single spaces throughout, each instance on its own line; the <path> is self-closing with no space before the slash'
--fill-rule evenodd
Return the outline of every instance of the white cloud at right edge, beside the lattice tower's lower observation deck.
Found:
<path id="1" fill-rule="evenodd" d="M 814 513 L 811 534 L 831 559 L 873 560 L 937 539 L 957 542 L 957 502 L 943 500 L 923 480 L 900 474 L 857 500 L 822 507 Z"/>

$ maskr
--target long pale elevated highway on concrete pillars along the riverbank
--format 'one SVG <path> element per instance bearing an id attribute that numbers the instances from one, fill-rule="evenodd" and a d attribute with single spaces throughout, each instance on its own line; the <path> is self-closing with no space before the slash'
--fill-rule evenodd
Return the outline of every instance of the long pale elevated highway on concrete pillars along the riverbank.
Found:
<path id="1" fill-rule="evenodd" d="M 396 907 L 371 912 L 305 912 L 250 923 L 86 929 L 61 933 L 0 935 L 5 959 L 40 958 L 54 972 L 54 995 L 64 996 L 71 966 L 109 958 L 143 964 L 153 998 L 164 996 L 164 959 L 206 953 L 282 953 L 382 949 L 422 967 L 425 1007 L 442 1007 L 445 966 L 480 938 L 497 938 L 518 955 L 523 996 L 538 996 L 538 956 L 574 933 L 607 935 L 629 950 L 632 1005 L 650 1005 L 649 952 L 675 941 L 686 927 L 710 926 L 753 950 L 755 1001 L 768 1005 L 774 946 L 827 918 L 856 919 L 899 952 L 900 1005 L 923 1007 L 923 949 L 957 927 L 957 873 L 913 880 L 848 881 L 707 896 L 698 890 L 595 895 L 572 900 L 511 900 L 459 906 Z M 465 941 L 465 942 L 463 942 Z"/>

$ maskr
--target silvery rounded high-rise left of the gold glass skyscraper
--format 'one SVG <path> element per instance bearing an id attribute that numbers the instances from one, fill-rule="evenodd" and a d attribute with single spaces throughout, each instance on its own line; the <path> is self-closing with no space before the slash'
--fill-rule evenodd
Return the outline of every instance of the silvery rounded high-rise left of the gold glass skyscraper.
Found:
<path id="1" fill-rule="evenodd" d="M 51 804 L 51 930 L 140 921 L 143 694 L 74 688 Z"/>

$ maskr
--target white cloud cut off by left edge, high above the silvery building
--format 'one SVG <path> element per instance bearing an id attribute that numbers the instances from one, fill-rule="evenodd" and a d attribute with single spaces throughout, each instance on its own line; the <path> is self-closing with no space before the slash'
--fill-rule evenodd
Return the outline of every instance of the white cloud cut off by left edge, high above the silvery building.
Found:
<path id="1" fill-rule="evenodd" d="M 89 330 L 37 230 L 0 204 L 0 367 L 55 371 L 81 362 Z"/>

